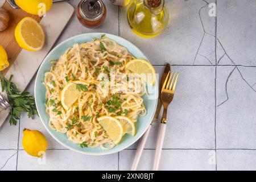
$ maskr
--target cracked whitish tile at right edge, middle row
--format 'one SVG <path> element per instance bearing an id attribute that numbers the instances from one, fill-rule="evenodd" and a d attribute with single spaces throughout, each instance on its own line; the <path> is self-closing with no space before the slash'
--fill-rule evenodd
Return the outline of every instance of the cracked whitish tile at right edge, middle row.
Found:
<path id="1" fill-rule="evenodd" d="M 256 91 L 250 86 L 255 72 L 256 68 L 217 68 L 217 148 L 256 148 Z"/>

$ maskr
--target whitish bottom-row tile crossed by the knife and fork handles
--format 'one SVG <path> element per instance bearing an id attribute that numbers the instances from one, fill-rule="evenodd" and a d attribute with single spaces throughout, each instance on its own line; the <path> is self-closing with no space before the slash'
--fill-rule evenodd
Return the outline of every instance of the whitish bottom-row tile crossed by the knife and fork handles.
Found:
<path id="1" fill-rule="evenodd" d="M 123 150 L 119 154 L 119 169 L 130 170 L 135 150 Z M 138 170 L 151 170 L 155 150 L 144 150 Z M 159 170 L 215 170 L 212 150 L 163 150 Z"/>

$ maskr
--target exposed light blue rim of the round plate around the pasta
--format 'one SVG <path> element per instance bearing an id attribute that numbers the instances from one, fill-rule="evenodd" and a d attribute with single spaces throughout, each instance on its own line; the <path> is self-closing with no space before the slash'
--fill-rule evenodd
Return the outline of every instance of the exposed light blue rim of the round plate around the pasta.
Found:
<path id="1" fill-rule="evenodd" d="M 106 154 L 113 154 L 114 152 L 121 151 L 131 144 L 136 142 L 144 132 L 147 130 L 147 127 L 150 125 L 152 118 L 154 116 L 156 105 L 157 105 L 157 98 L 158 98 L 158 84 L 155 83 L 154 86 L 147 85 L 148 92 L 150 93 L 148 96 L 143 96 L 144 105 L 147 109 L 147 115 L 144 117 L 139 117 L 138 122 L 136 123 L 136 135 L 132 137 L 130 135 L 125 135 L 121 142 L 112 148 L 111 150 L 102 150 L 102 148 L 81 148 L 79 144 L 72 143 L 68 140 L 65 134 L 58 133 L 55 130 L 52 130 L 51 127 L 48 125 L 49 115 L 46 113 L 46 106 L 44 103 L 46 102 L 46 88 L 42 84 L 44 81 L 44 73 L 48 72 L 51 68 L 51 64 L 49 61 L 59 59 L 61 55 L 69 48 L 72 47 L 75 43 L 81 42 L 90 42 L 92 39 L 100 38 L 102 33 L 89 33 L 89 34 L 81 34 L 74 36 L 65 40 L 64 42 L 57 45 L 55 48 L 52 49 L 51 52 L 48 53 L 46 58 L 44 59 L 42 65 L 39 68 L 38 75 L 36 76 L 35 81 L 35 102 L 36 107 L 38 109 L 39 117 L 43 122 L 44 127 L 46 127 L 49 134 L 52 135 L 53 138 L 57 140 L 57 142 L 61 143 L 63 146 L 70 148 L 71 150 L 80 152 L 82 154 L 89 154 L 89 155 L 106 155 Z M 136 47 L 134 44 L 130 43 L 129 41 L 120 38 L 119 36 L 106 34 L 107 37 L 115 40 L 117 43 L 121 44 L 122 46 L 129 49 L 129 51 L 137 58 L 140 59 L 147 59 L 147 57 Z"/>

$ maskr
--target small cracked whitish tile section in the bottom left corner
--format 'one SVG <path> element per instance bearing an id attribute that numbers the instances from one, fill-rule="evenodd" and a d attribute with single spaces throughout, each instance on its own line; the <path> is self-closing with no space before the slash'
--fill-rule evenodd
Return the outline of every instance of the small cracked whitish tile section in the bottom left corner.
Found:
<path id="1" fill-rule="evenodd" d="M 13 171 L 16 169 L 16 150 L 0 151 L 0 171 Z"/>

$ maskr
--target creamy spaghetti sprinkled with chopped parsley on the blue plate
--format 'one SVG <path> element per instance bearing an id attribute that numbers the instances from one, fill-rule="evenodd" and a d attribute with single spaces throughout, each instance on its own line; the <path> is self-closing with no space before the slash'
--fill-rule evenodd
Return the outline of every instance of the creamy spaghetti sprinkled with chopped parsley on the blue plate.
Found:
<path id="1" fill-rule="evenodd" d="M 141 76 L 125 70 L 127 61 L 134 58 L 127 48 L 106 37 L 68 48 L 45 73 L 49 126 L 81 146 L 114 147 L 97 118 L 125 115 L 137 122 L 139 116 L 146 114 L 142 98 L 146 84 Z M 65 85 L 75 80 L 89 85 L 65 110 L 60 94 Z"/>

